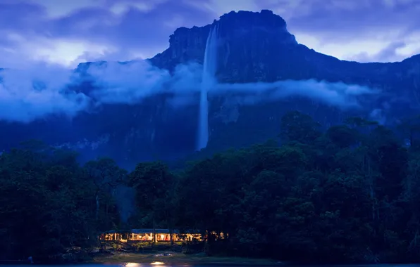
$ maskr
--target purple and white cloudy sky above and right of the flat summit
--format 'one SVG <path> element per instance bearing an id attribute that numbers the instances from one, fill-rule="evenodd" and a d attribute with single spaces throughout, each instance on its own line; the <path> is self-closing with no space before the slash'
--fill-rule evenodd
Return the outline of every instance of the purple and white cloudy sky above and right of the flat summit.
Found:
<path id="1" fill-rule="evenodd" d="M 192 0 L 190 0 L 192 2 Z M 321 53 L 352 60 L 365 53 L 372 61 L 395 40 L 407 44 L 395 60 L 420 53 L 420 2 L 415 0 L 203 0 L 200 10 L 214 16 L 230 9 L 271 9 L 288 23 L 299 43 Z M 379 55 L 381 56 L 381 55 Z M 385 60 L 386 61 L 386 60 Z"/>

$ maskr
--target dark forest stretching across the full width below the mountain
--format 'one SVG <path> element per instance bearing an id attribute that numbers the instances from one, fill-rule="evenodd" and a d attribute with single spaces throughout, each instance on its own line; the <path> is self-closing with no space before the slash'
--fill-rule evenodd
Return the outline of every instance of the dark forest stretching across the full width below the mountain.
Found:
<path id="1" fill-rule="evenodd" d="M 0 156 L 0 259 L 89 250 L 106 230 L 156 223 L 228 234 L 209 236 L 210 256 L 418 262 L 419 203 L 419 117 L 328 128 L 289 112 L 273 140 L 133 171 L 27 141 Z"/>

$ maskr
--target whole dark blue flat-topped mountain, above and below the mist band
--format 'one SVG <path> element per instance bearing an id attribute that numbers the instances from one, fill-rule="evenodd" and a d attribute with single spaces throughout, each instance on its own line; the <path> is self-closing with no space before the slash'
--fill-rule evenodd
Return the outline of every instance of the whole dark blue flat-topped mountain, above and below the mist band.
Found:
<path id="1" fill-rule="evenodd" d="M 173 72 L 179 64 L 202 64 L 209 32 L 218 27 L 216 77 L 224 84 L 323 81 L 357 84 L 378 89 L 375 96 L 358 96 L 362 108 L 343 109 L 326 105 L 304 94 L 245 103 L 237 93 L 209 96 L 207 150 L 249 145 L 277 136 L 280 118 L 301 110 L 329 126 L 349 115 L 372 117 L 394 123 L 416 112 L 420 105 L 420 55 L 398 63 L 357 63 L 338 60 L 298 44 L 285 20 L 271 11 L 239 11 L 222 15 L 211 25 L 181 27 L 171 35 L 169 48 L 149 59 Z M 82 63 L 77 72 L 92 64 Z M 88 92 L 92 84 L 78 85 Z M 173 95 L 148 96 L 135 105 L 102 105 L 73 119 L 49 116 L 30 124 L 0 122 L 0 148 L 37 138 L 53 145 L 78 148 L 84 159 L 108 155 L 123 167 L 149 159 L 174 159 L 194 152 L 197 137 L 199 96 L 190 105 L 171 105 Z"/>

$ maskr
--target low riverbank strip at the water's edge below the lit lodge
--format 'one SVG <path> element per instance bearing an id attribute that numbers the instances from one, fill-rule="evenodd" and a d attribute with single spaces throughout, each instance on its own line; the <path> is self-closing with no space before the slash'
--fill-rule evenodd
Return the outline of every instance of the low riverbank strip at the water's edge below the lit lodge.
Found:
<path id="1" fill-rule="evenodd" d="M 205 254 L 183 254 L 173 252 L 123 253 L 95 256 L 92 263 L 149 263 L 154 265 L 249 265 L 273 266 L 280 265 L 278 261 L 269 259 L 249 259 L 237 257 L 206 256 Z"/>

